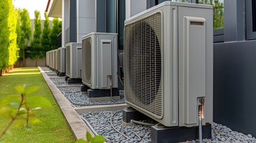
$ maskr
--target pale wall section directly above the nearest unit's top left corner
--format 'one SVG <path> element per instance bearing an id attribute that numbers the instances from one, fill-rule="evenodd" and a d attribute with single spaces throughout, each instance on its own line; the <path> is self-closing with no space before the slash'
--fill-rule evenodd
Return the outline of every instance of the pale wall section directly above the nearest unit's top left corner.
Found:
<path id="1" fill-rule="evenodd" d="M 147 10 L 147 0 L 126 0 L 125 19 Z"/>

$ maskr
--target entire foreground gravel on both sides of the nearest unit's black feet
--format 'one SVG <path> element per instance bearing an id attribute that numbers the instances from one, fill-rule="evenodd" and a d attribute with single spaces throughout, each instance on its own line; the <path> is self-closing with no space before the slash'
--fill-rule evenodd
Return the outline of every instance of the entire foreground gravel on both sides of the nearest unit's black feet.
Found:
<path id="1" fill-rule="evenodd" d="M 141 142 L 151 142 L 151 131 L 149 126 L 142 125 L 122 125 L 122 112 L 113 116 L 113 125 L 120 132 L 124 133 L 133 141 L 124 138 L 121 134 L 116 132 L 110 125 L 110 116 L 115 113 L 115 111 L 100 111 L 94 113 L 81 114 L 82 117 L 88 120 L 92 128 L 99 134 L 103 135 L 107 142 L 138 142 L 137 136 L 134 135 L 131 131 L 134 131 L 141 137 Z M 145 122 L 145 121 L 143 121 Z M 153 122 L 153 121 L 146 121 Z M 199 139 L 196 141 L 186 141 L 186 142 L 199 142 Z M 242 142 L 256 143 L 255 137 L 252 135 L 244 135 L 236 131 L 227 128 L 221 124 L 212 123 L 212 139 L 203 139 L 203 142 L 220 142 L 220 143 L 232 143 L 232 142 Z"/>

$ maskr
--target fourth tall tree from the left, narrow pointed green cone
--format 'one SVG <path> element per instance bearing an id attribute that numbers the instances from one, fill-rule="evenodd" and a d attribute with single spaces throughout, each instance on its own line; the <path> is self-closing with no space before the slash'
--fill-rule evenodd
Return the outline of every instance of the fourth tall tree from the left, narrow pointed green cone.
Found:
<path id="1" fill-rule="evenodd" d="M 31 42 L 32 51 L 30 51 L 30 58 L 35 58 L 36 66 L 38 57 L 44 57 L 42 54 L 41 48 L 41 34 L 42 34 L 42 20 L 40 18 L 40 12 L 35 11 L 34 19 L 34 32 L 33 32 L 33 41 Z"/>

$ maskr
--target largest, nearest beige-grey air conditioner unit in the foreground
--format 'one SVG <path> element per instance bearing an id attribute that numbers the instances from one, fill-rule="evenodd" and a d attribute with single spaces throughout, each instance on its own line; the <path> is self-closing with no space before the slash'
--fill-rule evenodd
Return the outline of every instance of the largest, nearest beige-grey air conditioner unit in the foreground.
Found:
<path id="1" fill-rule="evenodd" d="M 199 98 L 212 122 L 213 10 L 164 2 L 125 20 L 127 104 L 165 126 L 197 126 Z"/>

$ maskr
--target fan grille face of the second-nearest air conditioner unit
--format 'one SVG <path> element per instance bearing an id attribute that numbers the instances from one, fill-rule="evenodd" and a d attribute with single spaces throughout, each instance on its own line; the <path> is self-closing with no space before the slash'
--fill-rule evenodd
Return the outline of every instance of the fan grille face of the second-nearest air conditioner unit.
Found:
<path id="1" fill-rule="evenodd" d="M 82 65 L 83 81 L 88 85 L 91 85 L 91 37 L 82 40 Z"/>

